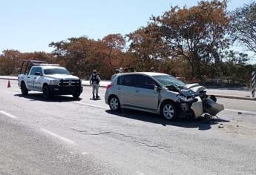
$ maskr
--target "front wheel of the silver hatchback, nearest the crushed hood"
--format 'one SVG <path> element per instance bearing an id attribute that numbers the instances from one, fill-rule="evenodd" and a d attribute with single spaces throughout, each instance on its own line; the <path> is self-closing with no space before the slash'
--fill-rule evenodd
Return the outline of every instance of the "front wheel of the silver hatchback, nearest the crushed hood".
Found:
<path id="1" fill-rule="evenodd" d="M 174 102 L 164 102 L 161 108 L 161 116 L 167 120 L 173 120 L 177 117 L 177 107 Z"/>

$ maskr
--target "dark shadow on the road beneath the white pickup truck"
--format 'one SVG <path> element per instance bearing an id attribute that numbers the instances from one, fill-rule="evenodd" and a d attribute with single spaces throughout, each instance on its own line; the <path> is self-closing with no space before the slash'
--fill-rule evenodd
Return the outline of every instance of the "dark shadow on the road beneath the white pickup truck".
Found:
<path id="1" fill-rule="evenodd" d="M 30 99 L 30 101 L 42 101 L 42 102 L 74 102 L 74 101 L 82 100 L 81 98 L 73 99 L 72 96 L 53 96 L 50 99 L 44 99 L 42 96 L 42 93 L 28 93 L 27 96 L 23 96 L 22 94 L 15 94 L 14 96 Z"/>

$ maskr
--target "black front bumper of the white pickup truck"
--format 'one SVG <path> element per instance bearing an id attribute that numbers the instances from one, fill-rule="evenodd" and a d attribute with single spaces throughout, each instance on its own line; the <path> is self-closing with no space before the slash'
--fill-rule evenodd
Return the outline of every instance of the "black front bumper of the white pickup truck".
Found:
<path id="1" fill-rule="evenodd" d="M 50 92 L 54 95 L 72 95 L 74 93 L 82 93 L 82 90 L 82 86 L 50 85 Z"/>

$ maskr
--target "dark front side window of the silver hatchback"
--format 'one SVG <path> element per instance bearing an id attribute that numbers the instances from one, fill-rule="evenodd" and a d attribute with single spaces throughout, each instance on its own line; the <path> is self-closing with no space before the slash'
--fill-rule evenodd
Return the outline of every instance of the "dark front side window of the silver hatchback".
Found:
<path id="1" fill-rule="evenodd" d="M 154 81 L 154 79 L 151 79 L 148 76 L 142 76 L 137 75 L 137 87 L 144 88 L 144 89 L 154 89 L 154 86 L 157 85 L 157 83 Z"/>

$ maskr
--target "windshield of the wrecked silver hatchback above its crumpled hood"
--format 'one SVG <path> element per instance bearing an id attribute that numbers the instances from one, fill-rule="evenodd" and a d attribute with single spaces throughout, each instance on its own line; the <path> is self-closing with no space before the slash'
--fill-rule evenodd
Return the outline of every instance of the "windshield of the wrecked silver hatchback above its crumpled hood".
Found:
<path id="1" fill-rule="evenodd" d="M 177 86 L 179 88 L 186 88 L 186 84 L 184 82 L 181 82 L 179 79 L 176 79 L 174 76 L 153 76 L 154 79 L 157 79 L 158 82 L 160 82 L 165 87 L 168 87 L 170 85 Z"/>

